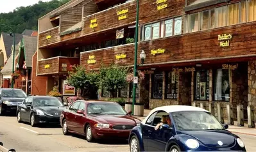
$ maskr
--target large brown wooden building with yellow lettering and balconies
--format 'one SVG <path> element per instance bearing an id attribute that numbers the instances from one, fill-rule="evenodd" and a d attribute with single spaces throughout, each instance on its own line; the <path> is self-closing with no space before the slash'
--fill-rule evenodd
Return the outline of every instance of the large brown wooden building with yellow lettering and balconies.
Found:
<path id="1" fill-rule="evenodd" d="M 139 0 L 138 63 L 144 50 L 139 68 L 147 74 L 138 100 L 149 109 L 256 108 L 255 8 L 256 0 Z M 70 1 L 48 13 L 38 22 L 37 76 L 47 75 L 50 91 L 52 76 L 66 75 L 69 65 L 133 66 L 135 18 L 133 0 Z M 129 86 L 117 94 L 131 99 Z"/>

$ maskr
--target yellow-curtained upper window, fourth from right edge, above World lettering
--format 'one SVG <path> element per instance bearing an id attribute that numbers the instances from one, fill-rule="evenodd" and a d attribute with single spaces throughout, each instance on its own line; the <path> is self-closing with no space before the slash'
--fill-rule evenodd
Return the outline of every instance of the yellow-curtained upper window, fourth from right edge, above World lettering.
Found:
<path id="1" fill-rule="evenodd" d="M 226 6 L 216 8 L 216 27 L 226 26 Z"/>

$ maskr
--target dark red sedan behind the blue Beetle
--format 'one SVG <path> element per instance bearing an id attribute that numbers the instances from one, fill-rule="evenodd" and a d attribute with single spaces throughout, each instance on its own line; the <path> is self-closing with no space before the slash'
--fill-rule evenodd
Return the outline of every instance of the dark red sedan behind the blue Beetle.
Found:
<path id="1" fill-rule="evenodd" d="M 101 138 L 128 139 L 134 126 L 141 123 L 115 102 L 78 100 L 62 111 L 62 132 L 85 135 L 87 141 Z"/>

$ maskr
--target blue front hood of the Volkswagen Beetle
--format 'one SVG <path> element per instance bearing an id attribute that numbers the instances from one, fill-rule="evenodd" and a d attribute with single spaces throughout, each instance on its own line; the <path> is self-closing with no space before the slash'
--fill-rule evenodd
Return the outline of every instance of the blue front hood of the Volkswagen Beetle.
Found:
<path id="1" fill-rule="evenodd" d="M 206 130 L 206 131 L 182 131 L 178 134 L 185 134 L 194 137 L 208 147 L 230 147 L 235 144 L 234 135 L 227 130 Z M 219 145 L 222 142 L 223 145 Z"/>

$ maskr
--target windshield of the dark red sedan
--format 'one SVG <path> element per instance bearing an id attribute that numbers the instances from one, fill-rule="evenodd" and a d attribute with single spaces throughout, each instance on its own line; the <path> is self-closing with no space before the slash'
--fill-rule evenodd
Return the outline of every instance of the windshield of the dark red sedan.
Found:
<path id="1" fill-rule="evenodd" d="M 121 105 L 116 103 L 89 103 L 88 114 L 120 114 L 126 115 L 126 111 Z"/>

